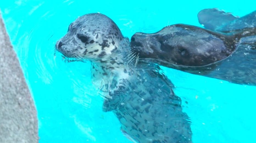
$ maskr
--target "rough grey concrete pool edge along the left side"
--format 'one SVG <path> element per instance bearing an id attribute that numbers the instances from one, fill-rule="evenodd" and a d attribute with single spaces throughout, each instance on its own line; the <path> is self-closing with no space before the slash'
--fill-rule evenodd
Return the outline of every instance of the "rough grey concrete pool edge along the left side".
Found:
<path id="1" fill-rule="evenodd" d="M 34 101 L 0 13 L 0 142 L 38 142 Z"/>

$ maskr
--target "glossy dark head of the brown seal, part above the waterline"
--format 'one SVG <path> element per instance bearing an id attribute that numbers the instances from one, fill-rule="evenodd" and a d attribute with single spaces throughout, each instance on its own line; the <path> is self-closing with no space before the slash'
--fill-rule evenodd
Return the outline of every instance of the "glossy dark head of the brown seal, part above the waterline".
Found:
<path id="1" fill-rule="evenodd" d="M 184 24 L 170 25 L 153 34 L 137 32 L 131 38 L 131 48 L 140 58 L 185 66 L 212 64 L 227 58 L 235 47 L 232 36 Z"/>

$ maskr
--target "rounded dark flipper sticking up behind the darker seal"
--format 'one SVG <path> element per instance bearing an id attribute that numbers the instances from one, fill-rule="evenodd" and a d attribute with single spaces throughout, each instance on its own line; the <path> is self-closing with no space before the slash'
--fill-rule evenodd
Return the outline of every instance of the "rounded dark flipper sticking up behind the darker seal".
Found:
<path id="1" fill-rule="evenodd" d="M 233 16 L 231 13 L 219 10 L 217 8 L 203 9 L 197 14 L 198 21 L 206 29 L 216 31 L 218 27 L 222 27 L 239 17 Z"/>

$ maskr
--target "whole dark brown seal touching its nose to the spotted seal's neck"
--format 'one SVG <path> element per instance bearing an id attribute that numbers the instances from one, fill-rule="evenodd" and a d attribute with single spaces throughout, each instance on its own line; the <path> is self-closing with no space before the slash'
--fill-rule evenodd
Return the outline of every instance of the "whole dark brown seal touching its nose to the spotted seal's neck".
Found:
<path id="1" fill-rule="evenodd" d="M 215 29 L 220 24 L 209 22 L 202 15 L 205 14 L 199 14 L 201 21 L 209 28 Z M 226 16 L 226 23 L 230 19 L 241 22 L 237 17 Z M 255 21 L 250 19 L 250 26 L 222 32 L 185 24 L 167 26 L 153 34 L 137 32 L 131 38 L 131 49 L 140 58 L 160 65 L 237 84 L 256 85 Z"/>

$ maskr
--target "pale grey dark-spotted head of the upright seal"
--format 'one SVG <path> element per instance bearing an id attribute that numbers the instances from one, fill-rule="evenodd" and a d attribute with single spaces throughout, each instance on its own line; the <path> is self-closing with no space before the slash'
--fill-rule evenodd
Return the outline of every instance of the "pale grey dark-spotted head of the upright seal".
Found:
<path id="1" fill-rule="evenodd" d="M 123 35 L 113 20 L 92 13 L 72 22 L 67 34 L 55 47 L 69 58 L 100 59 L 115 50 L 122 39 Z"/>

